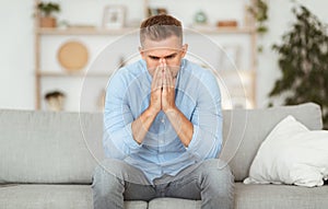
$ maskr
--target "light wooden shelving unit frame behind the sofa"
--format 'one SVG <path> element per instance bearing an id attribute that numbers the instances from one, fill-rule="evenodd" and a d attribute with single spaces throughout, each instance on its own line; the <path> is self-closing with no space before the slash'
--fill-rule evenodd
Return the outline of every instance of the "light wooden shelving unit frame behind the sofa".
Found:
<path id="1" fill-rule="evenodd" d="M 142 7 L 144 11 L 144 15 L 148 13 L 148 5 L 150 4 L 151 0 L 143 0 Z M 39 3 L 39 0 L 35 0 L 35 7 Z M 42 69 L 40 62 L 42 62 L 42 38 L 48 37 L 51 38 L 57 36 L 119 36 L 125 35 L 128 33 L 132 33 L 138 31 L 136 27 L 125 27 L 119 30 L 104 30 L 104 28 L 97 28 L 97 27 L 67 27 L 67 28 L 42 28 L 38 25 L 38 16 L 39 14 L 36 12 L 35 18 L 35 107 L 36 109 L 42 108 L 42 80 L 44 78 L 47 79 L 60 79 L 60 78 L 83 78 L 83 77 L 93 77 L 93 78 L 107 78 L 108 74 L 106 73 L 86 73 L 85 71 L 79 72 L 79 73 L 68 73 L 68 72 L 54 72 L 49 68 L 48 70 Z M 250 92 L 248 92 L 249 97 L 251 102 L 255 105 L 256 101 L 256 66 L 257 66 L 257 47 L 256 47 L 256 30 L 254 26 L 254 21 L 250 21 L 249 26 L 244 27 L 202 27 L 202 28 L 192 28 L 192 27 L 185 27 L 186 33 L 192 32 L 192 33 L 200 33 L 204 35 L 230 35 L 230 34 L 241 34 L 241 35 L 247 35 L 249 37 L 249 45 L 250 45 L 250 51 L 249 51 L 249 59 L 250 67 L 245 70 L 239 70 L 238 73 L 247 73 L 249 77 L 251 77 L 253 85 Z M 51 37 L 50 37 L 51 36 Z M 222 71 L 224 74 L 230 74 L 229 71 Z"/>

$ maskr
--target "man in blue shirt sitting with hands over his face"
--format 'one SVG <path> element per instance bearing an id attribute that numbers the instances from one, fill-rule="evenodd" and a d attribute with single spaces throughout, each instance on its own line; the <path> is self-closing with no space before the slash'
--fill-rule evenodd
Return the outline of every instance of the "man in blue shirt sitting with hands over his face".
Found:
<path id="1" fill-rule="evenodd" d="M 233 175 L 221 151 L 220 90 L 210 71 L 184 59 L 181 23 L 161 14 L 140 27 L 141 60 L 112 78 L 104 114 L 106 159 L 93 182 L 95 209 L 124 200 L 201 199 L 233 207 Z"/>

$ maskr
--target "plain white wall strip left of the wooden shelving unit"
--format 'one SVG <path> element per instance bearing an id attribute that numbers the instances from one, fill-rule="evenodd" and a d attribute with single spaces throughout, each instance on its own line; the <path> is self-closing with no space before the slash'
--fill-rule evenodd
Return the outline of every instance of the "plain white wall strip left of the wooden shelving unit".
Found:
<path id="1" fill-rule="evenodd" d="M 0 0 L 1 108 L 34 108 L 32 11 L 32 0 Z"/>

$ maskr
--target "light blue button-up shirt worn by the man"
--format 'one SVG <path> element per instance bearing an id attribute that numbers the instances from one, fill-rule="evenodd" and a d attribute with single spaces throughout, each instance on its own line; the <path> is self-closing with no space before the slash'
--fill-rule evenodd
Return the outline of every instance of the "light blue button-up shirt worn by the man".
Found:
<path id="1" fill-rule="evenodd" d="M 144 60 L 119 69 L 107 86 L 104 114 L 104 149 L 107 158 L 124 160 L 144 172 L 149 182 L 164 174 L 216 158 L 222 144 L 221 95 L 215 77 L 186 59 L 175 85 L 175 104 L 194 125 L 186 148 L 163 112 L 143 142 L 132 137 L 131 124 L 149 106 L 152 77 Z"/>

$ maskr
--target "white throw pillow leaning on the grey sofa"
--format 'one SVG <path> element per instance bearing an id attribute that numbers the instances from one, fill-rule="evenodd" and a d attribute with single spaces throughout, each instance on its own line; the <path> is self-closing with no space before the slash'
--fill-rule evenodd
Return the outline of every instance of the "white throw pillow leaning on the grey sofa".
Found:
<path id="1" fill-rule="evenodd" d="M 293 116 L 261 143 L 245 184 L 321 186 L 328 177 L 328 131 L 308 130 Z"/>

